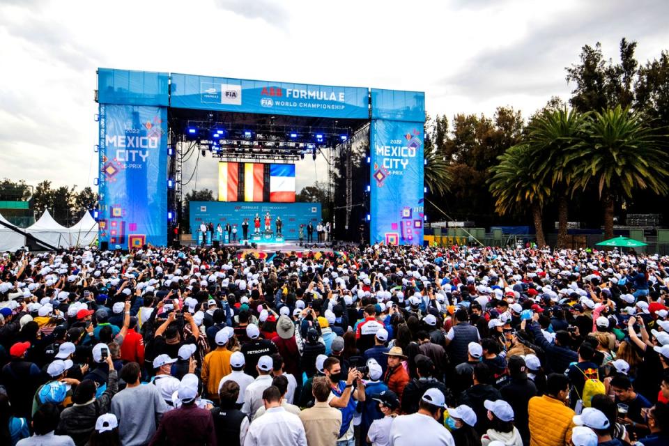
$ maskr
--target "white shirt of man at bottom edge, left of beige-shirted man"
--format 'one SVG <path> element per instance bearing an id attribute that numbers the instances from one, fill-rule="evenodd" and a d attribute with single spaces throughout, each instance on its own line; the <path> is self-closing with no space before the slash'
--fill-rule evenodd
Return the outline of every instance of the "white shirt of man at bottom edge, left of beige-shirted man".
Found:
<path id="1" fill-rule="evenodd" d="M 307 446 L 305 426 L 298 415 L 282 407 L 268 409 L 262 417 L 253 420 L 246 434 L 244 446 Z"/>

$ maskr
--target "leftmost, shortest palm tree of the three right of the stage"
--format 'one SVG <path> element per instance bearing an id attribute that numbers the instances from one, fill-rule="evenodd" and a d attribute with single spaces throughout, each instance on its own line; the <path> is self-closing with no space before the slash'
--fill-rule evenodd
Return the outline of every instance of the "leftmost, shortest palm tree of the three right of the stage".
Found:
<path id="1" fill-rule="evenodd" d="M 489 180 L 489 188 L 495 198 L 495 210 L 500 215 L 518 213 L 523 206 L 530 205 L 537 231 L 537 245 L 544 247 L 546 238 L 541 214 L 551 189 L 535 178 L 531 155 L 532 148 L 521 144 L 498 156 L 499 164 L 490 169 L 493 176 Z"/>

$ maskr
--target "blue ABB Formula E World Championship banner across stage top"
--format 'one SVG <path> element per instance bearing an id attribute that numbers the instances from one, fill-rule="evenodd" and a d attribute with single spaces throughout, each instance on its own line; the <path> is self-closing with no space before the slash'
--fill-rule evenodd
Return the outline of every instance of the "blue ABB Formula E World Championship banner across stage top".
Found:
<path id="1" fill-rule="evenodd" d="M 369 118 L 369 91 L 348 86 L 291 84 L 171 73 L 170 105 L 186 109 Z"/>

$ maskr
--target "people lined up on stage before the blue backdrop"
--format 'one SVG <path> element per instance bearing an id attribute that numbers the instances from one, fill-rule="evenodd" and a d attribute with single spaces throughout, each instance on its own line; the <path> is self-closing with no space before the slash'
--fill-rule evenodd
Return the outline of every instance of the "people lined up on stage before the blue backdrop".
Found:
<path id="1" fill-rule="evenodd" d="M 272 220 L 270 217 L 270 213 L 266 213 L 265 216 L 263 217 L 265 220 L 265 231 L 269 232 L 272 230 Z M 261 217 L 256 214 L 256 216 L 253 219 L 253 225 L 254 225 L 254 234 L 259 234 L 261 233 Z M 277 237 L 282 237 L 282 226 L 283 222 L 281 220 L 281 217 L 276 218 L 275 222 L 275 229 L 276 229 L 276 236 Z M 248 240 L 249 238 L 249 219 L 245 218 L 241 224 L 242 226 L 242 237 L 240 240 Z M 313 222 L 309 222 L 308 224 L 300 224 L 299 229 L 298 229 L 298 238 L 300 239 L 300 243 L 302 243 L 305 240 L 305 231 L 307 232 L 307 243 L 314 243 L 314 231 L 316 232 L 316 241 L 317 243 L 326 243 L 330 241 L 330 234 L 332 233 L 332 226 L 330 225 L 330 222 L 323 223 L 318 222 L 316 226 L 314 226 Z M 200 227 L 199 227 L 199 233 L 201 233 L 201 238 L 200 238 L 200 243 L 210 245 L 212 240 L 217 240 L 217 241 L 224 241 L 224 232 L 227 233 L 227 240 L 229 240 L 229 243 L 236 243 L 237 240 L 237 225 L 236 224 L 230 224 L 229 222 L 226 223 L 224 226 L 221 226 L 221 224 L 217 224 L 216 228 L 214 228 L 214 224 L 209 222 L 201 222 Z"/>

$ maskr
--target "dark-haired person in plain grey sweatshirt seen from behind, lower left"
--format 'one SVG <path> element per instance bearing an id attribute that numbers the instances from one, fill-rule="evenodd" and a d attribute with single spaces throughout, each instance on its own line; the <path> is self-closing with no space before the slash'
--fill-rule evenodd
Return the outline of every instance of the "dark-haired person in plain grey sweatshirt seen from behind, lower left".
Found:
<path id="1" fill-rule="evenodd" d="M 127 446 L 146 445 L 157 429 L 162 415 L 169 410 L 155 385 L 141 385 L 141 369 L 128 362 L 121 369 L 125 389 L 112 398 L 112 410 L 118 420 L 118 435 Z M 141 417 L 137 414 L 141 413 Z"/>

